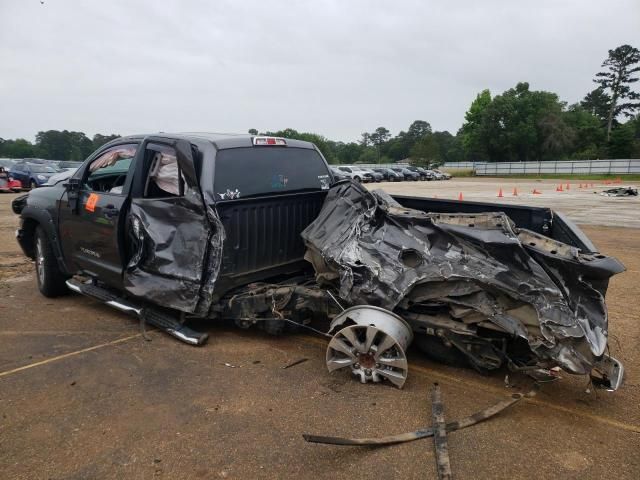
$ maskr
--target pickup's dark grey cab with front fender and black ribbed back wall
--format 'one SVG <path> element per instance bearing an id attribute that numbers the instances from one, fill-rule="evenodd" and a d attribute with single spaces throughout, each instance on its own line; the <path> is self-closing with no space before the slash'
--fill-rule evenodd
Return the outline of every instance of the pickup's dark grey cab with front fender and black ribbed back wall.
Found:
<path id="1" fill-rule="evenodd" d="M 17 237 L 38 268 L 36 227 L 60 276 L 82 273 L 133 297 L 204 312 L 238 285 L 308 268 L 299 233 L 331 182 L 309 142 L 124 137 L 71 178 L 26 197 Z M 54 286 L 45 277 L 38 275 L 43 293 L 61 293 L 58 279 Z"/>

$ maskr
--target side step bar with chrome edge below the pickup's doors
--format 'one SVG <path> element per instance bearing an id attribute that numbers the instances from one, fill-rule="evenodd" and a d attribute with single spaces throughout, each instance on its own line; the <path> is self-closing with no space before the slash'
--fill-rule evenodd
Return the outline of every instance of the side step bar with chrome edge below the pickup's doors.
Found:
<path id="1" fill-rule="evenodd" d="M 153 325 L 154 327 L 168 333 L 182 342 L 188 343 L 189 345 L 203 345 L 209 338 L 209 334 L 198 333 L 181 324 L 171 315 L 154 308 L 144 308 L 139 305 L 135 305 L 129 300 L 120 298 L 104 288 L 90 283 L 81 283 L 73 278 L 67 280 L 66 284 L 69 290 L 73 292 L 81 293 L 82 295 L 100 300 L 106 305 L 120 310 L 121 312 L 135 315 L 144 322 Z"/>

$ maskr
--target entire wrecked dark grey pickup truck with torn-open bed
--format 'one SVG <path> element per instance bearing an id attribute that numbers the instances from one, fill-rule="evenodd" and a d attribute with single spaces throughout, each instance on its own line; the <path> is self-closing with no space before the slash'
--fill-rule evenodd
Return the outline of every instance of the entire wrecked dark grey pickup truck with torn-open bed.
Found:
<path id="1" fill-rule="evenodd" d="M 195 318 L 324 322 L 328 369 L 362 382 L 401 387 L 414 340 L 479 371 L 622 382 L 604 296 L 624 267 L 546 208 L 392 197 L 334 182 L 311 143 L 217 134 L 120 138 L 12 206 L 44 295 L 97 298 L 190 344 L 207 339 Z"/>

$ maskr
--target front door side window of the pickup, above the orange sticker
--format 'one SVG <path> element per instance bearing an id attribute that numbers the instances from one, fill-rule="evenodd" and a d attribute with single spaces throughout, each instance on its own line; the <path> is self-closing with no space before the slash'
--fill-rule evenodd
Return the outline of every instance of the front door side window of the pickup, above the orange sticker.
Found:
<path id="1" fill-rule="evenodd" d="M 122 194 L 137 145 L 110 148 L 89 164 L 84 188 L 94 192 Z"/>

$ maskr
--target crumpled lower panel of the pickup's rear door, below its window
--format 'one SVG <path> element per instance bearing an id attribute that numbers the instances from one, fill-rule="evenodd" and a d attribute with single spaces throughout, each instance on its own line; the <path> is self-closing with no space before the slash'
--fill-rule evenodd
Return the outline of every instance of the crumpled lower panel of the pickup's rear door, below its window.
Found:
<path id="1" fill-rule="evenodd" d="M 136 199 L 131 205 L 132 257 L 125 288 L 136 297 L 206 315 L 220 271 L 224 230 L 214 209 L 189 196 Z"/>

